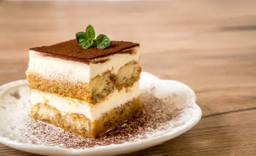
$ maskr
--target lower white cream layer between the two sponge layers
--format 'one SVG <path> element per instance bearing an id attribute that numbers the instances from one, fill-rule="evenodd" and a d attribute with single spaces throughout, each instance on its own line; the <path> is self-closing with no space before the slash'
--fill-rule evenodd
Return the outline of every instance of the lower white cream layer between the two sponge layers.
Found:
<path id="1" fill-rule="evenodd" d="M 135 82 L 133 87 L 128 90 L 128 92 L 126 92 L 125 88 L 119 92 L 116 90 L 110 94 L 104 102 L 100 102 L 97 105 L 89 105 L 85 101 L 72 99 L 70 97 L 59 97 L 54 94 L 31 90 L 31 105 L 46 103 L 55 107 L 61 113 L 79 113 L 94 121 L 99 118 L 102 113 L 125 104 L 127 101 L 132 100 L 133 97 L 138 97 L 140 95 L 139 82 Z"/>

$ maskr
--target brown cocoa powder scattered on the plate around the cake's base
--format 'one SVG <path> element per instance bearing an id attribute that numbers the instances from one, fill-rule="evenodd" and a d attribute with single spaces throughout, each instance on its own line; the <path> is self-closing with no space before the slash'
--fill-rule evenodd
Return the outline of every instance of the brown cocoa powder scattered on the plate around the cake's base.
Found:
<path id="1" fill-rule="evenodd" d="M 21 142 L 61 146 L 63 148 L 88 148 L 143 140 L 166 133 L 179 119 L 181 110 L 151 95 L 141 95 L 145 112 L 141 117 L 126 121 L 96 139 L 82 138 L 61 128 L 26 118 L 19 128 Z"/>

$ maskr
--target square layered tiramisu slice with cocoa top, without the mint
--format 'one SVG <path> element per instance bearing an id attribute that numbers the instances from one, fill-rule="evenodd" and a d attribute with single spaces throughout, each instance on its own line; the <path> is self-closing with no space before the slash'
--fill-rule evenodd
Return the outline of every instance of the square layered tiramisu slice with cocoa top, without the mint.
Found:
<path id="1" fill-rule="evenodd" d="M 30 117 L 95 138 L 140 115 L 138 49 L 124 41 L 82 49 L 77 40 L 31 48 Z"/>

